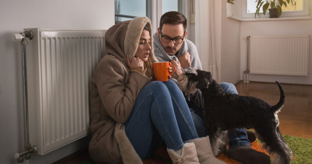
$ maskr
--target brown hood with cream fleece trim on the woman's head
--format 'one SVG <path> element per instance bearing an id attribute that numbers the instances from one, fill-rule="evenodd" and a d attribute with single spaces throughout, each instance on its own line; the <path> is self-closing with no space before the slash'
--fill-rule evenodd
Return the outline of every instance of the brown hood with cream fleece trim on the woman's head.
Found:
<path id="1" fill-rule="evenodd" d="M 151 42 L 149 61 L 150 63 L 158 62 L 154 56 L 152 24 L 147 17 L 135 17 L 132 20 L 119 22 L 110 27 L 105 33 L 106 52 L 128 65 L 126 54 L 129 55 L 131 61 L 138 48 L 139 39 L 145 25 L 149 29 Z"/>

